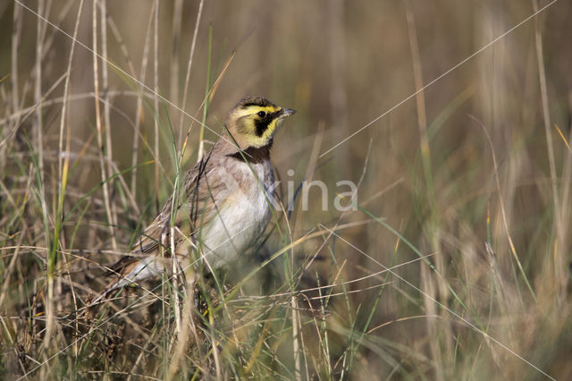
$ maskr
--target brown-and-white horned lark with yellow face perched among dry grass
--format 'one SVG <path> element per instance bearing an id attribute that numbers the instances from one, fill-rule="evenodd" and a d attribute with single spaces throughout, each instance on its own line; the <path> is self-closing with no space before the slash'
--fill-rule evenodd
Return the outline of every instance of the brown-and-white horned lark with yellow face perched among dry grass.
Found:
<path id="1" fill-rule="evenodd" d="M 109 267 L 114 279 L 91 305 L 126 285 L 172 274 L 172 254 L 182 268 L 202 261 L 207 273 L 239 260 L 271 220 L 270 150 L 283 120 L 295 113 L 265 97 L 240 99 L 224 133 L 185 175 L 180 194 L 167 199 L 133 249 Z"/>

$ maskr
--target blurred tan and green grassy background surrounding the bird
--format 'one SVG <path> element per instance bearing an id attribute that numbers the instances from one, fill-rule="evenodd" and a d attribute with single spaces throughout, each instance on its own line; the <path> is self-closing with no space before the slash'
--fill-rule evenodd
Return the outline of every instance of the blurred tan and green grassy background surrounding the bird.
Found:
<path id="1" fill-rule="evenodd" d="M 272 153 L 293 212 L 241 264 L 239 280 L 285 252 L 239 300 L 258 310 L 249 295 L 298 296 L 277 297 L 243 335 L 229 334 L 235 325 L 209 337 L 220 361 L 187 348 L 194 360 L 174 356 L 172 367 L 203 377 L 214 363 L 216 377 L 572 378 L 571 5 L 4 0 L 1 367 L 168 378 L 157 364 L 172 348 L 156 336 L 145 349 L 116 340 L 131 360 L 102 354 L 111 339 L 69 347 L 78 333 L 68 329 L 80 328 L 63 317 L 83 305 L 70 290 L 83 284 L 83 300 L 103 288 L 97 264 L 126 252 L 156 215 L 177 163 L 192 167 L 231 107 L 261 95 L 298 110 Z M 315 180 L 328 192 L 311 188 L 308 210 L 285 196 L 288 182 Z M 358 185 L 345 213 L 334 206 L 349 190 L 341 181 Z"/>

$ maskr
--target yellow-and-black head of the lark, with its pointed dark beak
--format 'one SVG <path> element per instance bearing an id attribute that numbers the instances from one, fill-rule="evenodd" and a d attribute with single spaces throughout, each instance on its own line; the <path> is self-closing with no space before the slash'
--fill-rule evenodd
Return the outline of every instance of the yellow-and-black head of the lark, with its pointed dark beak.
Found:
<path id="1" fill-rule="evenodd" d="M 264 97 L 245 97 L 232 107 L 224 124 L 241 149 L 269 148 L 283 119 L 294 113 Z"/>

